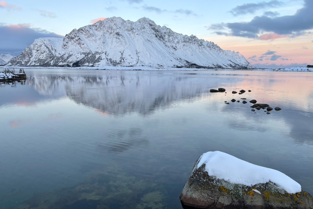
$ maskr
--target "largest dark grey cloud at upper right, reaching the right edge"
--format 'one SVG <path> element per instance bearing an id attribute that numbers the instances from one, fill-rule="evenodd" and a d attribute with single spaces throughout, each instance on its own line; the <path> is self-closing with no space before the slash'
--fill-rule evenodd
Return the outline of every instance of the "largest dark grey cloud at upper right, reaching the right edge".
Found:
<path id="1" fill-rule="evenodd" d="M 269 18 L 267 16 L 256 16 L 250 22 L 227 23 L 226 27 L 230 31 L 228 35 L 241 36 L 256 39 L 260 32 L 275 33 L 280 35 L 308 35 L 305 30 L 313 29 L 313 1 L 304 0 L 303 8 L 299 9 L 295 15 Z"/>

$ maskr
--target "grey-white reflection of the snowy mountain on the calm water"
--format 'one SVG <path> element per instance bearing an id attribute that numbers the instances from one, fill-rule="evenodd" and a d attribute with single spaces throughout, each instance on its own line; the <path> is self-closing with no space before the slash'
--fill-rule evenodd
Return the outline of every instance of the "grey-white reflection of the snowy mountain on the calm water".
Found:
<path id="1" fill-rule="evenodd" d="M 217 82 L 205 76 L 159 75 L 160 79 L 153 74 L 125 74 L 110 71 L 102 76 L 30 76 L 27 84 L 41 95 L 67 96 L 101 113 L 147 115 L 178 101 L 192 101 Z"/>

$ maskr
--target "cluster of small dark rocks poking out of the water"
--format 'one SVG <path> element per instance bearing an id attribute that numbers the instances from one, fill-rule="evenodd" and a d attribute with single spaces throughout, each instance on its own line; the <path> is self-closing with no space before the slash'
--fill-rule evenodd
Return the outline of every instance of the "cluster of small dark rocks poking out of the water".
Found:
<path id="1" fill-rule="evenodd" d="M 216 89 L 210 89 L 210 92 L 225 92 L 226 91 L 226 89 L 224 89 L 224 88 L 218 88 L 218 90 L 216 90 Z M 232 94 L 239 94 L 239 95 L 241 95 L 241 94 L 243 94 L 244 92 L 246 92 L 245 90 L 240 90 L 239 91 L 239 93 L 237 92 L 237 91 L 232 91 Z M 251 92 L 251 90 L 248 90 L 248 92 Z M 225 93 L 227 93 L 227 92 L 225 92 Z M 226 95 L 226 94 L 225 94 Z M 242 101 L 242 103 L 243 104 L 246 104 L 246 103 L 248 103 L 246 100 L 247 100 L 247 98 L 240 98 L 241 100 L 243 100 Z M 236 100 L 236 99 L 232 99 L 232 100 L 230 100 L 231 102 L 240 102 L 240 100 Z M 264 111 L 264 112 L 266 112 L 266 114 L 270 114 L 270 111 L 272 111 L 273 110 L 273 108 L 272 107 L 270 107 L 268 104 L 262 104 L 262 103 L 257 103 L 257 101 L 255 100 L 255 99 L 253 99 L 253 100 L 251 100 L 251 101 L 249 101 L 250 103 L 252 103 L 253 105 L 251 106 L 251 111 L 252 112 L 255 112 L 255 110 L 260 110 L 260 109 L 266 109 L 266 111 Z M 227 102 L 227 101 L 224 101 L 224 103 L 225 104 L 230 104 L 229 102 Z M 281 110 L 281 108 L 280 107 L 275 107 L 274 108 L 276 111 L 280 111 Z"/>

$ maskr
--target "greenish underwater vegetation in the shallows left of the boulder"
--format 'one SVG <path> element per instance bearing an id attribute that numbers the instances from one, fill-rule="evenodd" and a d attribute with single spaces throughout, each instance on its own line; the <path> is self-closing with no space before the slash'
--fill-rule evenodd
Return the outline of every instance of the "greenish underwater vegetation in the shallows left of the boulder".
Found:
<path id="1" fill-rule="evenodd" d="M 161 209 L 166 207 L 166 194 L 153 180 L 110 167 L 90 173 L 73 187 L 36 194 L 17 209 Z"/>

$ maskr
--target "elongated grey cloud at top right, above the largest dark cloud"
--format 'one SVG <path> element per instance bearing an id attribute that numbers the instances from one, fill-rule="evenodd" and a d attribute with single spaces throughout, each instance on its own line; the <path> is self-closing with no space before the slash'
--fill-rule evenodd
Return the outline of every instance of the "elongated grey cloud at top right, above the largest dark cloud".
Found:
<path id="1" fill-rule="evenodd" d="M 260 3 L 246 3 L 240 6 L 237 6 L 230 10 L 234 16 L 242 15 L 242 14 L 253 14 L 254 12 L 264 9 L 264 8 L 274 8 L 283 5 L 282 2 L 277 0 L 272 0 L 269 2 L 260 2 Z"/>

